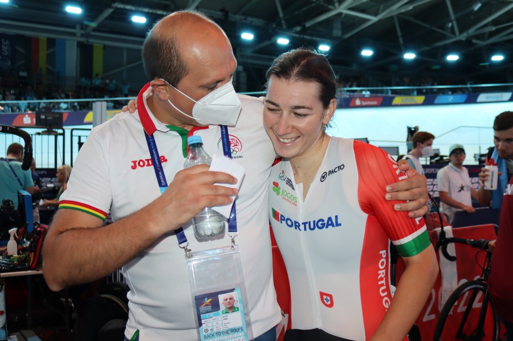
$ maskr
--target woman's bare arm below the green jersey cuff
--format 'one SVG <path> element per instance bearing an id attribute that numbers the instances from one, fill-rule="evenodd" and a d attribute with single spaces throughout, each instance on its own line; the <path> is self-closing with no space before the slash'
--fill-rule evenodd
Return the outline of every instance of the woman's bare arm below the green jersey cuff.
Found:
<path id="1" fill-rule="evenodd" d="M 390 308 L 371 341 L 402 341 L 426 304 L 438 274 L 435 249 L 429 245 L 412 257 L 403 257 L 406 265 Z"/>

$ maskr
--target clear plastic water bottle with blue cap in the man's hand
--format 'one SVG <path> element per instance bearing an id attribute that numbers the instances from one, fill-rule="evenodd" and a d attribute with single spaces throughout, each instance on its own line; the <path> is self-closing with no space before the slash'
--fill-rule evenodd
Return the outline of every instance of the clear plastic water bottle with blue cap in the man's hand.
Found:
<path id="1" fill-rule="evenodd" d="M 189 168 L 198 164 L 208 164 L 212 158 L 203 150 L 203 141 L 201 136 L 190 136 L 187 139 L 189 144 L 189 154 L 184 163 L 184 168 Z M 198 239 L 224 236 L 226 228 L 226 218 L 211 208 L 206 207 L 198 215 L 192 218 L 192 227 L 194 235 Z"/>

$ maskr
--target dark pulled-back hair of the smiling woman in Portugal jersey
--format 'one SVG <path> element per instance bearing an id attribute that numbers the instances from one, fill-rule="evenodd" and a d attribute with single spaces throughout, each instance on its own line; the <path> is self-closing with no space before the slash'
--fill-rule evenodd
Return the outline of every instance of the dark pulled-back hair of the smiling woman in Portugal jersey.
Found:
<path id="1" fill-rule="evenodd" d="M 317 82 L 320 85 L 319 100 L 327 108 L 337 93 L 337 77 L 326 56 L 309 49 L 296 49 L 274 59 L 265 73 L 266 81 L 271 76 L 286 80 Z"/>

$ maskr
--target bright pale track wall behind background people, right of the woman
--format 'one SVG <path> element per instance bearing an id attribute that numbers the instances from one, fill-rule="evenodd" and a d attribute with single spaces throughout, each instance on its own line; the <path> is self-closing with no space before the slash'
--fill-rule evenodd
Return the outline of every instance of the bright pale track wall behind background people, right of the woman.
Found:
<path id="1" fill-rule="evenodd" d="M 485 153 L 494 144 L 492 125 L 504 111 L 513 111 L 513 102 L 338 109 L 327 133 L 366 137 L 377 146 L 399 146 L 400 154 L 406 154 L 406 127 L 418 125 L 435 135 L 433 148 L 440 148 L 441 155 L 448 154 L 451 144 L 463 144 L 465 163 L 471 164 L 475 153 Z"/>

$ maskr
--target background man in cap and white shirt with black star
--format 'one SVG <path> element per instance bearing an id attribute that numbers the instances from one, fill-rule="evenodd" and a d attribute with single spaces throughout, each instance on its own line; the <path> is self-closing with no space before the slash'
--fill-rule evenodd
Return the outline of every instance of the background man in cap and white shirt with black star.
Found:
<path id="1" fill-rule="evenodd" d="M 450 163 L 440 169 L 437 175 L 438 193 L 442 213 L 450 223 L 455 212 L 464 210 L 472 213 L 472 199 L 478 198 L 477 190 L 472 187 L 467 168 L 463 167 L 465 161 L 465 148 L 456 143 L 449 147 Z"/>

